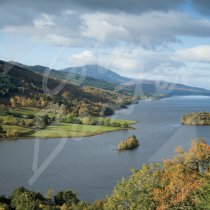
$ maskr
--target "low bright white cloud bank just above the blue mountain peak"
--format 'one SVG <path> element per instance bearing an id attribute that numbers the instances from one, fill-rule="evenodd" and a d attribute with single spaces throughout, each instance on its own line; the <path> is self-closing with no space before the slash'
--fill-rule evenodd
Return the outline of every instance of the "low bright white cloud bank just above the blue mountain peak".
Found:
<path id="1" fill-rule="evenodd" d="M 154 52 L 142 47 L 129 46 L 83 51 L 71 55 L 68 58 L 68 63 L 71 66 L 97 63 L 133 78 L 141 77 L 147 73 L 151 74 L 151 72 L 163 73 L 166 69 L 170 70 L 171 68 L 179 69 L 184 65 L 171 52 Z"/>

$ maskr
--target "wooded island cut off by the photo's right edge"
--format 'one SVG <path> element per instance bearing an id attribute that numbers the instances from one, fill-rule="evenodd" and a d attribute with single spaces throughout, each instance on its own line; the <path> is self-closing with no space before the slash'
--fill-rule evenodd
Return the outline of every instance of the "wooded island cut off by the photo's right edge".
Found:
<path id="1" fill-rule="evenodd" d="M 193 112 L 181 118 L 183 125 L 210 125 L 209 112 Z"/>

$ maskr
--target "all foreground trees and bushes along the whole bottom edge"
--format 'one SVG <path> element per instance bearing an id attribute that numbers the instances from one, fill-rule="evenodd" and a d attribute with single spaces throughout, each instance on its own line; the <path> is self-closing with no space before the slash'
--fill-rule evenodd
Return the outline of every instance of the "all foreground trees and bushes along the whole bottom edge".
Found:
<path id="1" fill-rule="evenodd" d="M 93 204 L 69 191 L 46 196 L 20 187 L 11 196 L 0 196 L 2 210 L 169 210 L 210 209 L 210 146 L 193 140 L 191 148 L 176 150 L 173 159 L 143 165 L 123 178 L 111 195 Z"/>

